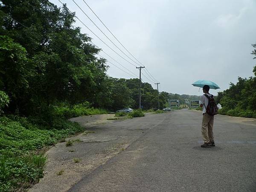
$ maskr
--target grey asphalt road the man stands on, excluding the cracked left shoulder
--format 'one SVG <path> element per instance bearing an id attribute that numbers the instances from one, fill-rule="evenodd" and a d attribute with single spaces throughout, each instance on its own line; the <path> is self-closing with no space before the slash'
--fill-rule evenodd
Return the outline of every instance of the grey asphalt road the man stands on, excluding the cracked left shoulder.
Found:
<path id="1" fill-rule="evenodd" d="M 216 146 L 201 148 L 201 119 L 184 109 L 102 125 L 102 133 L 117 131 L 131 143 L 70 191 L 255 192 L 255 120 L 215 116 Z"/>

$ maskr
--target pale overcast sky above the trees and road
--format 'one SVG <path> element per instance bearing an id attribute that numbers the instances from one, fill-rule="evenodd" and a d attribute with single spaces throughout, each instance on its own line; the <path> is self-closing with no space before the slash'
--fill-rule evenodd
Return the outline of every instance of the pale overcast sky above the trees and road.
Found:
<path id="1" fill-rule="evenodd" d="M 58 0 L 50 1 L 58 6 L 61 5 Z M 70 10 L 76 12 L 76 15 L 96 35 L 120 55 L 122 54 L 90 22 L 73 0 L 61 1 L 67 3 Z M 114 41 L 113 36 L 83 0 L 75 1 Z M 205 79 L 214 81 L 221 87 L 211 91 L 217 94 L 218 91 L 227 89 L 230 82 L 236 83 L 238 76 L 253 76 L 252 70 L 256 60 L 253 60 L 253 55 L 250 53 L 253 50 L 251 44 L 256 43 L 255 0 L 85 0 L 85 2 L 160 82 L 161 91 L 201 95 L 201 90 L 198 92 L 199 88 L 191 84 L 199 79 Z M 83 33 L 93 38 L 94 44 L 139 75 L 138 69 L 116 55 L 83 24 L 77 21 L 76 26 L 80 26 Z M 118 42 L 114 42 L 122 48 Z M 124 49 L 122 50 L 125 52 Z M 116 64 L 104 53 L 101 55 Z M 122 56 L 126 58 L 125 55 Z M 112 64 L 109 66 L 110 76 L 132 78 Z M 142 73 L 143 81 L 148 82 L 145 71 L 142 70 Z M 151 84 L 154 85 L 152 82 Z"/>

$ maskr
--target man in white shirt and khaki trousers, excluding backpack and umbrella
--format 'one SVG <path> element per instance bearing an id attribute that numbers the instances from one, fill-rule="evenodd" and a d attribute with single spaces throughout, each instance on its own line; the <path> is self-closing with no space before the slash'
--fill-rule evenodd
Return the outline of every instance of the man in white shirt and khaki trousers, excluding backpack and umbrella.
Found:
<path id="1" fill-rule="evenodd" d="M 201 145 L 201 147 L 215 146 L 212 132 L 214 116 L 211 116 L 208 113 L 206 113 L 206 108 L 209 103 L 209 99 L 207 98 L 207 96 L 209 96 L 210 98 L 213 97 L 213 95 L 209 93 L 209 89 L 210 87 L 208 85 L 204 85 L 203 92 L 205 93 L 205 95 L 201 97 L 200 101 L 200 107 L 203 107 L 202 136 L 204 140 L 204 144 Z"/>

